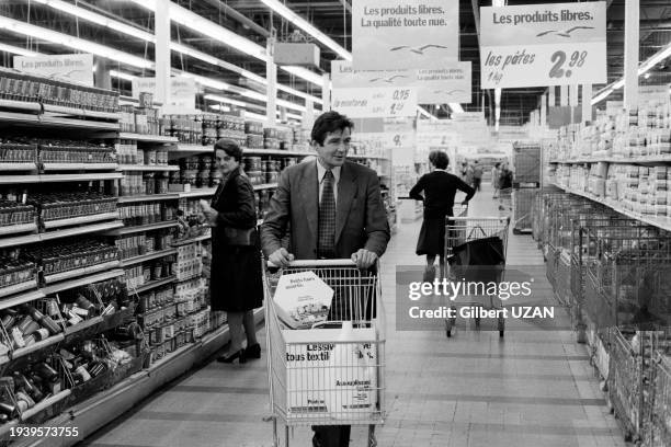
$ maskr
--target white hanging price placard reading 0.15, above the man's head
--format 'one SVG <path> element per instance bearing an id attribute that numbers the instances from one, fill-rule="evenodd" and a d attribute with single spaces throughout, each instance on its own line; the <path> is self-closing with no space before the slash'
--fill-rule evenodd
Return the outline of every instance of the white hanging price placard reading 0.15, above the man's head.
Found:
<path id="1" fill-rule="evenodd" d="M 350 118 L 414 116 L 413 88 L 333 89 L 331 106 Z"/>

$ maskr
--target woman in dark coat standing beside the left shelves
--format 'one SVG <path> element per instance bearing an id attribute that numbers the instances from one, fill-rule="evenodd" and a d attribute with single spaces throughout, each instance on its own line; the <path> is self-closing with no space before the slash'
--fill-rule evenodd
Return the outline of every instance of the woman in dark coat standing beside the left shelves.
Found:
<path id="1" fill-rule="evenodd" d="M 211 204 L 201 208 L 212 229 L 212 309 L 226 311 L 230 348 L 218 362 L 261 358 L 252 310 L 263 306 L 261 253 L 257 233 L 254 188 L 242 171 L 242 149 L 229 139 L 214 146 L 221 183 Z M 247 348 L 242 347 L 247 335 Z"/>

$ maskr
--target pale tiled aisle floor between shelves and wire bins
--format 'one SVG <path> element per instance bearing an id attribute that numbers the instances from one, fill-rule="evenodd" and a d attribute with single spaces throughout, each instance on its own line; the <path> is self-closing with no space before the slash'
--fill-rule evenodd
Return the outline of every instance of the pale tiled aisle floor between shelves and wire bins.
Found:
<path id="1" fill-rule="evenodd" d="M 476 196 L 471 216 L 496 209 L 491 192 Z M 625 446 L 609 414 L 584 345 L 573 342 L 568 318 L 557 309 L 547 324 L 511 322 L 504 339 L 459 323 L 444 332 L 397 332 L 395 270 L 421 266 L 414 255 L 420 222 L 405 225 L 383 257 L 388 314 L 386 425 L 378 445 L 441 447 Z M 531 236 L 512 236 L 508 264 L 534 277 L 534 294 L 514 303 L 551 306 L 541 252 Z M 516 266 L 516 267 L 515 267 Z M 417 280 L 421 280 L 418 268 Z M 512 300 L 511 300 L 512 301 Z M 265 332 L 262 331 L 264 336 Z M 265 360 L 216 362 L 152 397 L 109 425 L 87 445 L 271 446 Z M 292 445 L 310 446 L 309 428 Z M 365 445 L 352 431 L 352 446 Z"/>

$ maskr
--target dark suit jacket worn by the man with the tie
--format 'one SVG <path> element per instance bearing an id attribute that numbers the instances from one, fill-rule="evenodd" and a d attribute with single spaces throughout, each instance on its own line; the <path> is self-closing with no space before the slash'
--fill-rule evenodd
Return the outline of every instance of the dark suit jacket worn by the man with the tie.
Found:
<path id="1" fill-rule="evenodd" d="M 261 227 L 263 252 L 270 255 L 282 247 L 288 226 L 289 253 L 296 260 L 317 259 L 318 218 L 317 161 L 285 169 Z M 377 174 L 369 168 L 345 161 L 340 171 L 336 204 L 337 257 L 349 259 L 360 249 L 382 256 L 389 237 Z"/>

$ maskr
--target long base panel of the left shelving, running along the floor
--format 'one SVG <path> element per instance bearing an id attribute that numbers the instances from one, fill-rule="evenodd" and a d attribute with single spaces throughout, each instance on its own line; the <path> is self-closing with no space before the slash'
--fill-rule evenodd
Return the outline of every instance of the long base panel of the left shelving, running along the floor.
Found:
<path id="1" fill-rule="evenodd" d="M 254 310 L 254 322 L 263 321 L 263 308 Z M 78 427 L 84 437 L 92 435 L 120 414 L 133 409 L 139 401 L 150 396 L 157 389 L 211 358 L 230 340 L 228 324 L 224 324 L 213 333 L 206 334 L 200 342 L 189 345 L 189 349 L 161 359 L 150 367 L 101 391 L 89 400 L 75 405 L 68 412 L 42 424 L 52 427 Z M 157 365 L 160 365 L 158 367 Z M 73 446 L 79 439 L 64 438 L 62 446 Z M 34 442 L 21 443 L 20 446 L 49 447 L 53 439 L 41 438 Z"/>

